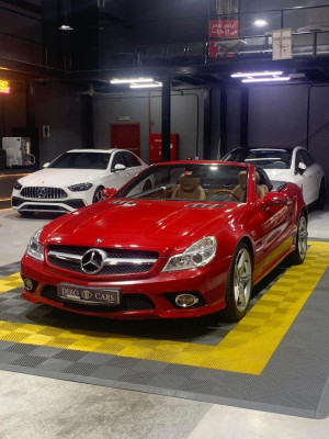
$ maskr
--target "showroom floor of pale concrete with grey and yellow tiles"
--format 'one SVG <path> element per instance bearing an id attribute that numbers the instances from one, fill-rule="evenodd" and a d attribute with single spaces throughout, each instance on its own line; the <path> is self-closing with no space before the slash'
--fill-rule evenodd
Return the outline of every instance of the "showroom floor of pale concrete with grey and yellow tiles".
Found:
<path id="1" fill-rule="evenodd" d="M 307 260 L 269 279 L 242 325 L 167 325 L 167 340 L 161 324 L 118 323 L 114 354 L 102 323 L 20 300 L 16 262 L 49 219 L 0 211 L 1 438 L 327 438 L 329 206 L 309 219 Z M 282 307 L 266 316 L 275 295 Z M 279 317 L 266 338 L 258 323 Z M 241 339 L 220 362 L 225 344 Z"/>

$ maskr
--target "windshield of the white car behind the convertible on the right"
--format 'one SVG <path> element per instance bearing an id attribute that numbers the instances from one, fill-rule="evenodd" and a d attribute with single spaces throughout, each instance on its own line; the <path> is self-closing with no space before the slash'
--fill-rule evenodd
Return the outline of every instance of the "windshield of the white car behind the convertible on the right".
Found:
<path id="1" fill-rule="evenodd" d="M 236 149 L 225 157 L 226 161 L 245 161 L 264 169 L 290 169 L 292 151 L 286 149 Z"/>

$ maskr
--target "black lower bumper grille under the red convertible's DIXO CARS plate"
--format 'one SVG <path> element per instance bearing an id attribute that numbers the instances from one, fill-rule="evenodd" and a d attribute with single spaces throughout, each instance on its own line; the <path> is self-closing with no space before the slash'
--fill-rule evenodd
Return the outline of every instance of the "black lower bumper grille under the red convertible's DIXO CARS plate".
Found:
<path id="1" fill-rule="evenodd" d="M 57 296 L 56 286 L 46 285 L 42 291 L 42 296 L 48 299 L 49 301 L 65 304 L 67 308 L 73 311 L 88 311 L 91 313 L 115 313 L 118 311 L 146 311 L 155 309 L 154 302 L 145 294 L 123 294 L 122 303 L 118 306 L 107 306 L 107 305 L 88 305 L 82 303 L 73 303 L 69 301 L 63 301 Z"/>

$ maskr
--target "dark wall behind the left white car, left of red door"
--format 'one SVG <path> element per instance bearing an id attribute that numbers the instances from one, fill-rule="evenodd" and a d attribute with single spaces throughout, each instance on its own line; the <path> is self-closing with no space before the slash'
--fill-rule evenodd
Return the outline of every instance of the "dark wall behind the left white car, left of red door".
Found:
<path id="1" fill-rule="evenodd" d="M 36 126 L 39 133 L 39 162 L 58 154 L 81 147 L 81 102 L 69 86 L 45 83 L 36 87 Z M 43 137 L 43 125 L 49 125 L 50 137 Z"/>

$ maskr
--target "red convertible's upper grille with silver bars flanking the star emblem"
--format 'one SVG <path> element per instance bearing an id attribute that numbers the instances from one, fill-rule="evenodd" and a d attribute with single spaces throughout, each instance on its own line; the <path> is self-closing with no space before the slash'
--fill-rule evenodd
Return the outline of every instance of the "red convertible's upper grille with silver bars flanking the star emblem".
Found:
<path id="1" fill-rule="evenodd" d="M 83 271 L 81 270 L 80 260 L 89 249 L 90 247 L 50 245 L 48 247 L 48 261 L 55 267 L 82 273 Z M 100 250 L 105 251 L 109 259 L 118 260 L 118 263 L 105 263 L 102 270 L 97 273 L 103 275 L 145 273 L 154 267 L 156 260 L 159 258 L 159 254 L 156 251 L 123 250 L 113 248 L 100 248 Z M 60 254 L 60 257 L 58 254 Z M 65 258 L 61 257 L 63 255 Z M 75 258 L 70 259 L 70 256 L 78 258 L 73 260 Z M 121 259 L 125 259 L 125 261 L 120 262 Z M 136 259 L 140 260 L 141 263 L 135 263 L 134 260 Z M 143 262 L 143 260 L 145 260 L 145 262 Z M 146 260 L 151 261 L 149 262 Z"/>

